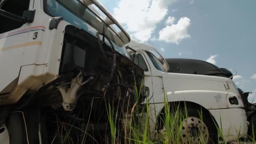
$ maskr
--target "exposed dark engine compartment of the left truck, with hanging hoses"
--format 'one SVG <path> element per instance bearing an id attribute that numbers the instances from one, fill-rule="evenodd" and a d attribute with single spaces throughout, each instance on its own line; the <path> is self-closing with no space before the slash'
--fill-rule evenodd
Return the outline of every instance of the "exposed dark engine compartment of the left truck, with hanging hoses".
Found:
<path id="1" fill-rule="evenodd" d="M 137 90 L 143 87 L 143 70 L 82 29 L 66 27 L 60 61 L 59 77 L 40 88 L 33 101 L 45 116 L 49 141 L 59 131 L 56 123 L 70 122 L 83 130 L 72 130 L 71 135 L 91 131 L 92 135 L 97 133 L 99 141 L 105 141 L 109 111 L 115 112 L 118 125 L 122 125 L 134 104 L 145 98 L 143 91 Z M 67 98 L 64 93 L 69 91 L 73 92 Z M 64 104 L 65 99 L 74 103 Z"/>

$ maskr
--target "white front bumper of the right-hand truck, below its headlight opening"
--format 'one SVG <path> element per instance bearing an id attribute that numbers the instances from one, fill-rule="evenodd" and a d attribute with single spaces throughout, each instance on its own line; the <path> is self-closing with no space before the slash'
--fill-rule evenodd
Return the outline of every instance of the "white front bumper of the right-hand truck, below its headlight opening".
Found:
<path id="1" fill-rule="evenodd" d="M 210 109 L 211 115 L 215 118 L 224 140 L 235 141 L 245 137 L 248 131 L 248 122 L 245 110 L 242 108 Z"/>

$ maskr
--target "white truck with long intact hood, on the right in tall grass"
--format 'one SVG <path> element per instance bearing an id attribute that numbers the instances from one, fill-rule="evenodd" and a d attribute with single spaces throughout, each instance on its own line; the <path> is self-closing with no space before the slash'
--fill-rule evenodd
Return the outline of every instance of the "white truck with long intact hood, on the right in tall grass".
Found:
<path id="1" fill-rule="evenodd" d="M 131 58 L 144 69 L 144 85 L 149 89 L 151 131 L 165 130 L 165 125 L 161 123 L 165 116 L 166 100 L 170 107 L 179 106 L 181 112 L 187 107 L 188 117 L 182 123 L 182 141 L 186 144 L 189 139 L 197 143 L 202 137 L 208 143 L 216 143 L 216 125 L 228 142 L 247 135 L 245 107 L 231 80 L 234 75 L 227 78 L 194 75 L 193 72 L 168 73 L 169 69 L 175 70 L 175 67 L 169 68 L 167 61 L 151 45 L 132 40 L 126 47 L 133 49 L 129 51 Z M 203 122 L 198 114 L 201 109 Z"/>

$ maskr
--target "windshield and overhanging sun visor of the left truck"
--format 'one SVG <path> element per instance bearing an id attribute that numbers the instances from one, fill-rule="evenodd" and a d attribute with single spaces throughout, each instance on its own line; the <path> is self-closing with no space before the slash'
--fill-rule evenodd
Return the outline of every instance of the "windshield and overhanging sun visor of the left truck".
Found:
<path id="1" fill-rule="evenodd" d="M 72 24 L 75 27 L 85 30 L 86 32 L 90 33 L 96 38 L 97 38 L 96 32 L 106 34 L 109 40 L 112 41 L 115 51 L 126 57 L 129 57 L 127 50 L 123 47 L 123 45 L 125 45 L 123 40 L 127 41 L 128 37 L 124 37 L 124 39 L 122 39 L 120 35 L 117 34 L 117 33 L 121 33 L 123 35 L 122 33 L 123 31 L 117 32 L 115 29 L 113 30 L 113 28 L 110 27 L 112 25 L 107 25 L 106 21 L 104 21 L 99 15 L 97 15 L 94 11 L 92 11 L 91 8 L 85 5 L 82 1 L 72 0 L 71 3 L 76 3 L 74 5 L 72 4 L 73 7 L 72 6 L 69 7 L 69 5 L 67 5 L 65 1 L 62 2 L 61 0 L 44 0 L 43 2 L 44 2 L 43 8 L 47 15 L 51 17 L 61 16 L 64 18 L 64 21 L 67 21 L 69 24 Z M 83 11 L 83 8 L 85 8 L 84 13 L 89 14 L 91 18 L 89 15 L 88 15 L 89 17 L 87 16 L 84 17 L 83 14 L 80 15 L 79 13 L 77 13 L 76 10 L 74 10 L 74 8 L 76 8 L 75 6 L 77 6 L 77 8 L 80 8 L 80 10 L 82 11 Z M 54 12 L 55 10 L 54 8 L 58 8 L 59 11 Z M 78 24 L 76 22 L 73 23 L 72 22 L 73 20 L 78 20 Z M 90 27 L 91 29 L 93 29 L 93 31 L 90 30 Z M 121 30 L 121 29 L 118 29 L 118 30 Z M 101 41 L 102 40 L 103 39 L 101 38 Z M 105 41 L 105 43 L 111 47 L 108 41 Z"/>

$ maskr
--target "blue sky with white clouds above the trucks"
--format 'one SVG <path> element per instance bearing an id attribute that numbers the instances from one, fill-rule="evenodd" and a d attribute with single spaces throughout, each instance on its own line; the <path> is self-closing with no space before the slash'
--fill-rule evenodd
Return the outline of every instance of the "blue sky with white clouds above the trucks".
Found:
<path id="1" fill-rule="evenodd" d="M 256 101 L 256 0 L 99 1 L 133 39 L 165 58 L 235 69 L 234 82 Z"/>

